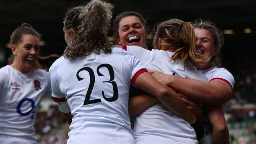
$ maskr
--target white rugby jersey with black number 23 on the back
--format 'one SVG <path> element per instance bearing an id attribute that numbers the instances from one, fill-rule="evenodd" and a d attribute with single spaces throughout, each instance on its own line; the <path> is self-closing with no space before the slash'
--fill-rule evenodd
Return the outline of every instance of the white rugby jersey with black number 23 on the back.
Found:
<path id="1" fill-rule="evenodd" d="M 67 101 L 73 115 L 68 144 L 134 144 L 128 98 L 130 83 L 147 71 L 121 48 L 73 60 L 60 57 L 50 67 L 55 102 Z"/>

